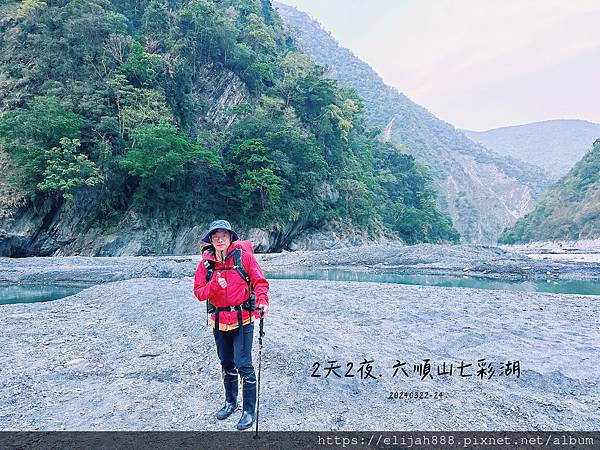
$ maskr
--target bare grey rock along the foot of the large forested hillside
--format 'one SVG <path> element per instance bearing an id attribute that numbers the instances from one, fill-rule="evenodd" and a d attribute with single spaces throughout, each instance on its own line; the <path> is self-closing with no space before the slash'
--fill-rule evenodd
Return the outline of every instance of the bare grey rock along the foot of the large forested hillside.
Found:
<path id="1" fill-rule="evenodd" d="M 141 215 L 130 210 L 116 225 L 105 227 L 90 219 L 93 202 L 27 204 L 11 217 L 0 218 L 0 256 L 145 256 L 198 253 L 208 223 L 189 223 L 163 211 Z M 46 211 L 46 213 L 43 213 Z M 88 215 L 89 213 L 89 215 Z M 283 227 L 236 228 L 257 252 L 321 250 L 372 242 L 348 227 L 315 229 L 298 215 Z"/>

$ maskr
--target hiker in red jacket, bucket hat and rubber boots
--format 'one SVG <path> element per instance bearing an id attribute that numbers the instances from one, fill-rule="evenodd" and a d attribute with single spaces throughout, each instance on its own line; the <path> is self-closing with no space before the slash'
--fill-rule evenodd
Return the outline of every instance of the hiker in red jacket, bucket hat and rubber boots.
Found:
<path id="1" fill-rule="evenodd" d="M 242 416 L 238 430 L 255 420 L 256 374 L 252 366 L 254 321 L 269 310 L 269 282 L 254 257 L 252 242 L 242 241 L 226 220 L 215 220 L 202 239 L 194 295 L 207 301 L 217 353 L 221 360 L 225 406 L 217 419 L 237 409 L 238 373 L 242 378 Z"/>

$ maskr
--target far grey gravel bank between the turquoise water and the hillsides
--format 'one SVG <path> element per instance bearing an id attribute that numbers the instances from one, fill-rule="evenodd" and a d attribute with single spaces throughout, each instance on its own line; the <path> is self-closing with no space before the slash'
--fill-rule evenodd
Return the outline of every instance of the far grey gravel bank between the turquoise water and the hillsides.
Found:
<path id="1" fill-rule="evenodd" d="M 481 245 L 399 244 L 323 251 L 257 254 L 269 272 L 349 269 L 424 275 L 468 275 L 498 280 L 600 279 L 600 263 L 533 259 Z M 193 276 L 199 255 L 0 258 L 0 283 L 101 283 L 130 278 Z"/>

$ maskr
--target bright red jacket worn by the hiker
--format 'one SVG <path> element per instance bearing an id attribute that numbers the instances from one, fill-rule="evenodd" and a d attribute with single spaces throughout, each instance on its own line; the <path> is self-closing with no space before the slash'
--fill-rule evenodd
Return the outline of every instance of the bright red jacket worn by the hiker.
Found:
<path id="1" fill-rule="evenodd" d="M 210 300 L 210 303 L 216 307 L 236 306 L 241 305 L 250 297 L 250 288 L 246 280 L 244 280 L 239 272 L 235 269 L 222 270 L 223 267 L 233 267 L 234 258 L 229 258 L 225 263 L 215 260 L 215 256 L 207 251 L 212 245 L 206 245 L 202 248 L 202 261 L 198 264 L 196 275 L 194 277 L 194 295 L 198 300 Z M 250 277 L 250 284 L 256 295 L 256 306 L 269 304 L 267 296 L 269 292 L 269 282 L 258 265 L 258 261 L 254 257 L 252 242 L 250 241 L 235 241 L 232 242 L 227 249 L 229 255 L 235 248 L 242 249 L 242 264 Z M 210 281 L 206 282 L 206 267 L 204 260 L 214 261 L 214 272 Z M 223 289 L 219 285 L 217 278 L 225 278 L 227 287 Z M 255 318 L 260 318 L 259 311 L 254 311 L 252 316 L 247 310 L 242 310 L 242 320 L 244 325 L 253 322 Z M 211 325 L 215 326 L 215 313 L 211 315 Z M 233 330 L 238 327 L 237 311 L 219 311 L 219 329 L 221 331 Z"/>

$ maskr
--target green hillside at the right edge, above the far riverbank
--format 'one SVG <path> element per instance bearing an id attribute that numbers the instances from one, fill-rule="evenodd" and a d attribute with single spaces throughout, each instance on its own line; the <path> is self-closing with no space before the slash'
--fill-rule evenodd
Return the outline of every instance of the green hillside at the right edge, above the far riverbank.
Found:
<path id="1" fill-rule="evenodd" d="M 600 139 L 498 242 L 600 238 Z"/>

